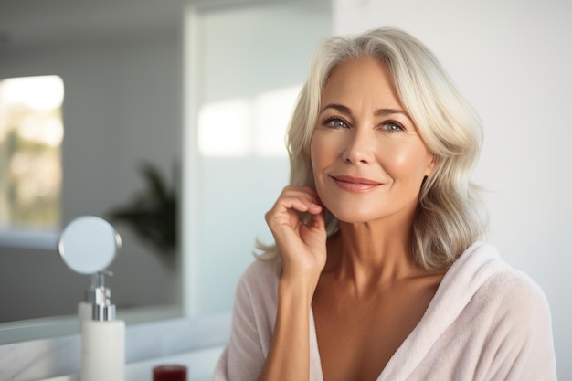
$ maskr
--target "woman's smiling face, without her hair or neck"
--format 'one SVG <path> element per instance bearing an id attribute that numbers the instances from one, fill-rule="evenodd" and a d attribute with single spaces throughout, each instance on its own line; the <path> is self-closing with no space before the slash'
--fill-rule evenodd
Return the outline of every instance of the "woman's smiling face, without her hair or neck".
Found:
<path id="1" fill-rule="evenodd" d="M 345 61 L 332 72 L 310 151 L 323 205 L 350 223 L 413 216 L 434 164 L 391 73 L 371 58 Z"/>

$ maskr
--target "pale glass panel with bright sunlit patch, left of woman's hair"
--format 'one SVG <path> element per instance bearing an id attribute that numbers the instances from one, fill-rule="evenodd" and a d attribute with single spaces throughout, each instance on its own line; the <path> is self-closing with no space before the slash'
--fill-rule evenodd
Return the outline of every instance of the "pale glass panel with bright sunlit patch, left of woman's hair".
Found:
<path id="1" fill-rule="evenodd" d="M 282 2 L 208 11 L 200 21 L 198 254 L 187 291 L 191 312 L 208 313 L 230 311 L 255 239 L 272 242 L 264 214 L 288 184 L 286 127 L 331 16 L 327 2 Z"/>

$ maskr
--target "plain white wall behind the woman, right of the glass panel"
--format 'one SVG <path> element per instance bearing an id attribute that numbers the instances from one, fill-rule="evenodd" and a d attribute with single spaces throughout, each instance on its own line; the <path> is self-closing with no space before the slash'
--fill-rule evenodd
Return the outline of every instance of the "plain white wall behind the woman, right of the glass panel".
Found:
<path id="1" fill-rule="evenodd" d="M 420 38 L 480 113 L 488 240 L 546 292 L 558 378 L 572 379 L 572 3 L 334 0 L 333 12 L 335 34 L 399 26 Z"/>

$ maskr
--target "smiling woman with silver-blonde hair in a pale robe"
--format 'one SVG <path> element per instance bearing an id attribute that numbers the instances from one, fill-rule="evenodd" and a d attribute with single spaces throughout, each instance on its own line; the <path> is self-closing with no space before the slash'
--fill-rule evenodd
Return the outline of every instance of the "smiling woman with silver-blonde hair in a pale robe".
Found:
<path id="1" fill-rule="evenodd" d="M 481 131 L 416 38 L 324 41 L 215 379 L 556 379 L 543 292 L 479 240 Z"/>

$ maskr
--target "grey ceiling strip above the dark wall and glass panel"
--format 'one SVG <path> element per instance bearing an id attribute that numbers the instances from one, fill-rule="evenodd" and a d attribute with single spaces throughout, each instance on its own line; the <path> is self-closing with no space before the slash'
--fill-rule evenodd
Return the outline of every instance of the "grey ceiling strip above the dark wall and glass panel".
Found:
<path id="1" fill-rule="evenodd" d="M 180 33 L 187 4 L 205 10 L 282 2 L 329 6 L 328 0 L 0 0 L 0 48 Z"/>

